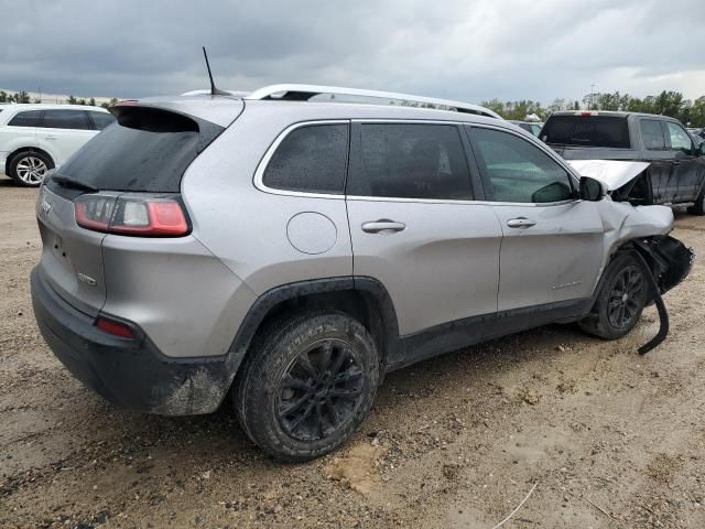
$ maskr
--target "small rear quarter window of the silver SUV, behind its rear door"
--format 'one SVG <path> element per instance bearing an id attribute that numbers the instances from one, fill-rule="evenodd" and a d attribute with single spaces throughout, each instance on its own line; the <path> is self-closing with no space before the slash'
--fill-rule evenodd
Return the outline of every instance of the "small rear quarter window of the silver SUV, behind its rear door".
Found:
<path id="1" fill-rule="evenodd" d="M 341 195 L 347 158 L 347 125 L 301 127 L 276 148 L 262 182 L 276 190 Z"/>

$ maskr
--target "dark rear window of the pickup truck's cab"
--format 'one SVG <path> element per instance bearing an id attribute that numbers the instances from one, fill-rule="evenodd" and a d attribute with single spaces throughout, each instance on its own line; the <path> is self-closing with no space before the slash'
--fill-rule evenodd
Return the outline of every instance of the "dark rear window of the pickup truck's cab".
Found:
<path id="1" fill-rule="evenodd" d="M 567 145 L 629 148 L 627 118 L 617 116 L 552 116 L 541 139 Z"/>

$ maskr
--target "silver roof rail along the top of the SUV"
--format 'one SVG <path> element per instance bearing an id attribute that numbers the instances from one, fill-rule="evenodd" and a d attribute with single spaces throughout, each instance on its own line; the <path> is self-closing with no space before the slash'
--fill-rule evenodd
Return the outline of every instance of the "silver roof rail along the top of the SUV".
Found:
<path id="1" fill-rule="evenodd" d="M 434 97 L 412 96 L 409 94 L 397 94 L 393 91 L 365 90 L 360 88 L 343 88 L 339 86 L 316 86 L 316 85 L 270 85 L 259 88 L 251 94 L 243 96 L 243 99 L 254 100 L 289 100 L 289 101 L 307 101 L 312 97 L 330 94 L 352 97 L 368 97 L 375 99 L 387 99 L 417 102 L 422 105 L 433 105 L 440 110 L 455 110 L 464 114 L 475 114 L 489 118 L 502 119 L 497 112 L 489 108 L 471 102 L 452 101 L 448 99 L 436 99 Z"/>

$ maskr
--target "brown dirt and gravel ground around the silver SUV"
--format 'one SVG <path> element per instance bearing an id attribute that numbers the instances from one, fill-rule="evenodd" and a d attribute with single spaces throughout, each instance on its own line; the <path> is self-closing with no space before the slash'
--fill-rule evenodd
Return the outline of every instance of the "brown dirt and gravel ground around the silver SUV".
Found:
<path id="1" fill-rule="evenodd" d="M 0 180 L 0 527 L 705 527 L 705 264 L 601 342 L 547 326 L 390 375 L 343 450 L 264 456 L 228 410 L 121 411 L 34 323 L 33 190 Z M 705 218 L 674 235 L 705 255 Z"/>

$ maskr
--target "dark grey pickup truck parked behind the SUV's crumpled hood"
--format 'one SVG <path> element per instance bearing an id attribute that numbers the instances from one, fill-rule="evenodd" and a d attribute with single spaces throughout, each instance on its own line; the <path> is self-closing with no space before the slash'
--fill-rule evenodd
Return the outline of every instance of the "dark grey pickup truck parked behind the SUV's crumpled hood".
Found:
<path id="1" fill-rule="evenodd" d="M 612 197 L 634 205 L 690 204 L 705 214 L 705 143 L 696 145 L 677 119 L 637 112 L 552 115 L 539 136 L 566 160 L 649 162 Z"/>

